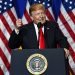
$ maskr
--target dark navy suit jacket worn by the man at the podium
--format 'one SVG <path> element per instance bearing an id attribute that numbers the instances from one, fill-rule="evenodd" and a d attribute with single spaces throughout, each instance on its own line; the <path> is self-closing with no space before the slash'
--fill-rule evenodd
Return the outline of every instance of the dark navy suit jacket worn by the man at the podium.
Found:
<path id="1" fill-rule="evenodd" d="M 57 44 L 61 48 L 68 48 L 67 38 L 60 31 L 58 24 L 52 21 L 44 23 L 44 37 L 46 48 L 56 48 Z M 14 49 L 22 46 L 23 49 L 37 49 L 38 42 L 33 22 L 20 28 L 19 34 L 15 31 L 11 33 L 9 47 Z"/>

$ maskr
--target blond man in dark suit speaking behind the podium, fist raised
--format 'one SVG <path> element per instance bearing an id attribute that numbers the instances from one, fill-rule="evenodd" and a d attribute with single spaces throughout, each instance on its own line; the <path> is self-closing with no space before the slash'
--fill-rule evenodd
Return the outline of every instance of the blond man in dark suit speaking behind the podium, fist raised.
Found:
<path id="1" fill-rule="evenodd" d="M 9 39 L 9 47 L 11 49 L 19 46 L 22 49 L 38 49 L 38 23 L 40 22 L 45 38 L 45 48 L 57 48 L 59 44 L 61 48 L 64 48 L 67 57 L 69 55 L 67 38 L 62 34 L 56 22 L 46 20 L 44 6 L 33 4 L 29 13 L 33 21 L 23 26 L 21 26 L 21 19 L 16 21 L 16 29 L 13 30 Z"/>

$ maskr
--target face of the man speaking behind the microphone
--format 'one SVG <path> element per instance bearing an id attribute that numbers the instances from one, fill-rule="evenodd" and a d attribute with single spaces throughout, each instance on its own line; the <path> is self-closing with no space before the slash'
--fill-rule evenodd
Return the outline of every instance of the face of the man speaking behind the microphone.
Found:
<path id="1" fill-rule="evenodd" d="M 31 17 L 32 17 L 34 23 L 36 23 L 36 24 L 38 24 L 39 22 L 41 22 L 43 24 L 46 21 L 45 11 L 41 10 L 41 9 L 33 11 Z"/>

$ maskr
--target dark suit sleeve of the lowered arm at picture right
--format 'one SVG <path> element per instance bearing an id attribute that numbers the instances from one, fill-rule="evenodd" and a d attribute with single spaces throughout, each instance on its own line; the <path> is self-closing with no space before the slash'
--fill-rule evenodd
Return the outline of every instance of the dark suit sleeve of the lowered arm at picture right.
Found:
<path id="1" fill-rule="evenodd" d="M 69 48 L 69 44 L 67 41 L 67 38 L 63 35 L 61 30 L 58 27 L 58 24 L 55 25 L 55 36 L 56 36 L 56 41 L 60 45 L 61 48 Z"/>

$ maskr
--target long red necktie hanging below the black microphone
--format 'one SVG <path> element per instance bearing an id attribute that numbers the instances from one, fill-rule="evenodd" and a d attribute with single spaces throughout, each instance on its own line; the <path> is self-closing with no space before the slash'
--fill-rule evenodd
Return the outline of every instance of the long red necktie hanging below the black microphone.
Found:
<path id="1" fill-rule="evenodd" d="M 42 31 L 42 27 L 39 29 L 39 49 L 45 49 L 45 39 Z"/>

